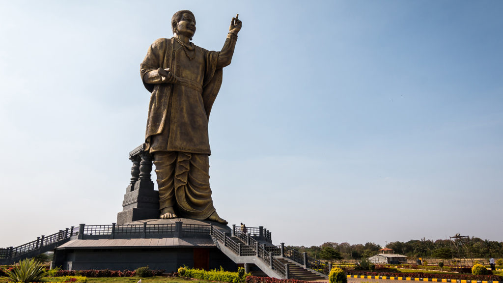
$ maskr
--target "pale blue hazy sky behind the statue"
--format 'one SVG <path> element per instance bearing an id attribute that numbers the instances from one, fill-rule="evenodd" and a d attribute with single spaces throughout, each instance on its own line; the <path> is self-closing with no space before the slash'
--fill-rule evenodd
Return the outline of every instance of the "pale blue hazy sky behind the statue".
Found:
<path id="1" fill-rule="evenodd" d="M 230 224 L 287 245 L 503 241 L 499 1 L 1 7 L 0 247 L 115 222 L 145 131 L 139 63 L 183 9 L 210 50 L 243 21 L 209 124 Z"/>

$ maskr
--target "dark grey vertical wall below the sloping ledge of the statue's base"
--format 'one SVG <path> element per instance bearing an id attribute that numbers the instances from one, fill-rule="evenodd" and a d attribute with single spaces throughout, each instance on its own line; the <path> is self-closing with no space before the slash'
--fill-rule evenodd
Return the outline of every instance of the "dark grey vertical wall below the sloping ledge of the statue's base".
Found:
<path id="1" fill-rule="evenodd" d="M 68 270 L 110 269 L 135 270 L 147 266 L 150 269 L 177 271 L 178 267 L 236 271 L 237 265 L 216 247 L 212 248 L 129 248 L 129 249 L 56 249 L 52 266 Z"/>

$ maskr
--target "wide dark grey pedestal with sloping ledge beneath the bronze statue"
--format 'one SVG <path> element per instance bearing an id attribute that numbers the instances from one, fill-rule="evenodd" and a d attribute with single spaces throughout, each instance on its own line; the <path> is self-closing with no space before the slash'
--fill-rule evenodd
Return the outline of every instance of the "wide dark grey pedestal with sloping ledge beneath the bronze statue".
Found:
<path id="1" fill-rule="evenodd" d="M 192 219 L 153 219 L 117 225 L 113 227 L 113 233 L 86 234 L 81 239 L 74 237 L 57 247 L 52 266 L 68 270 L 134 270 L 148 265 L 151 269 L 174 272 L 178 267 L 187 265 L 206 270 L 220 266 L 226 270 L 237 270 L 236 263 L 217 248 L 209 235 L 210 224 L 212 229 L 230 234 L 227 226 Z M 145 227 L 143 231 L 146 233 L 132 235 L 125 231 L 132 227 Z"/>

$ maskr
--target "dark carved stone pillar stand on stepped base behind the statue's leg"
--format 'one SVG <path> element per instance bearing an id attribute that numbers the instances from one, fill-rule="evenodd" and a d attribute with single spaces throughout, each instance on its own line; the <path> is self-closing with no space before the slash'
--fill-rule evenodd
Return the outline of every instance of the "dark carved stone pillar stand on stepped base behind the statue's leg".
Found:
<path id="1" fill-rule="evenodd" d="M 159 218 L 159 192 L 154 191 L 154 183 L 150 179 L 152 158 L 143 150 L 144 146 L 142 144 L 129 153 L 133 163 L 131 181 L 124 194 L 122 211 L 117 214 L 117 225 Z"/>

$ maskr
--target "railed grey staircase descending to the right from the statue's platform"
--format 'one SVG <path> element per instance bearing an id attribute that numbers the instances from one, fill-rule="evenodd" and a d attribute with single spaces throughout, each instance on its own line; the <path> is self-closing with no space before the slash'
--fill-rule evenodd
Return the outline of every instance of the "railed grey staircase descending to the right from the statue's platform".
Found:
<path id="1" fill-rule="evenodd" d="M 255 228 L 247 228 L 250 229 Z M 247 231 L 247 232 L 248 232 Z M 267 232 L 267 231 L 264 231 Z M 269 233 L 243 233 L 239 228 L 232 227 L 232 233 L 213 229 L 211 236 L 218 249 L 235 263 L 254 263 L 270 277 L 321 280 L 328 278 L 331 268 L 319 260 L 296 250 L 275 246 Z M 268 235 L 263 237 L 263 235 Z M 322 272 L 319 272 L 322 271 Z"/>

